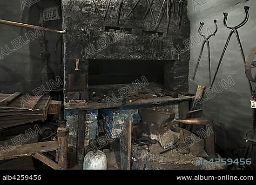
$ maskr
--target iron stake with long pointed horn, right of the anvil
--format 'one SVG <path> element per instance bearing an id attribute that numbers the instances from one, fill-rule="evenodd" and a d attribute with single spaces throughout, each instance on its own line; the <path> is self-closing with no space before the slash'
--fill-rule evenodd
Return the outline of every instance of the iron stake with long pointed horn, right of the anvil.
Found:
<path id="1" fill-rule="evenodd" d="M 210 126 L 211 130 L 213 131 L 213 121 L 211 119 L 191 118 L 191 119 L 174 120 L 173 122 L 179 122 L 187 125 Z M 215 152 L 214 133 L 211 133 L 204 138 L 204 149 L 209 155 L 209 159 L 217 159 L 216 152 Z"/>

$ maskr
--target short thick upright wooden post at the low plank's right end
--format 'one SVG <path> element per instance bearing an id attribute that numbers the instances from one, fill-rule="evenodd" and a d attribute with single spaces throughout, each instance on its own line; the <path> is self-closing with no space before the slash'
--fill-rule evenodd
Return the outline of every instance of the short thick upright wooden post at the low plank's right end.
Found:
<path id="1" fill-rule="evenodd" d="M 67 139 L 69 129 L 66 126 L 66 122 L 67 120 L 59 121 L 60 127 L 57 130 L 58 143 L 60 146 L 58 163 L 63 169 L 67 169 Z"/>

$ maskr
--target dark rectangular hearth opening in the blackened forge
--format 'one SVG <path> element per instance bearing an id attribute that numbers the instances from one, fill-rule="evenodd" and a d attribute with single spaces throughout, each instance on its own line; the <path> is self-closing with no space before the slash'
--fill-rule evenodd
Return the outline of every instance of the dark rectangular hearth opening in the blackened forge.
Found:
<path id="1" fill-rule="evenodd" d="M 89 59 L 89 86 L 129 84 L 145 76 L 164 85 L 163 60 Z"/>

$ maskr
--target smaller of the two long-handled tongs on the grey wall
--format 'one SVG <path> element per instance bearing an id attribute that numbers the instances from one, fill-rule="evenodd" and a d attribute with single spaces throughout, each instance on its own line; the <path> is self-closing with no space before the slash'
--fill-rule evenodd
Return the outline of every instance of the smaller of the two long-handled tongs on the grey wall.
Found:
<path id="1" fill-rule="evenodd" d="M 215 24 L 215 32 L 213 34 L 210 34 L 208 37 L 206 37 L 203 33 L 202 33 L 202 27 L 204 25 L 203 22 L 200 22 L 200 27 L 198 29 L 198 33 L 199 35 L 201 35 L 203 37 L 203 42 L 202 42 L 202 48 L 201 48 L 201 52 L 200 52 L 200 55 L 199 55 L 199 58 L 197 60 L 197 64 L 196 64 L 196 67 L 195 67 L 195 72 L 194 72 L 194 76 L 193 76 L 193 80 L 195 80 L 195 75 L 197 73 L 197 69 L 198 69 L 198 66 L 199 66 L 199 62 L 201 60 L 201 57 L 202 57 L 202 52 L 203 52 L 203 49 L 204 49 L 204 46 L 205 44 L 207 45 L 207 50 L 208 50 L 208 62 L 209 62 L 209 84 L 211 84 L 211 62 L 210 62 L 210 42 L 209 42 L 209 39 L 212 37 L 212 36 L 215 36 L 215 34 L 217 33 L 218 31 L 218 26 L 217 26 L 217 20 L 214 20 L 214 24 Z"/>

